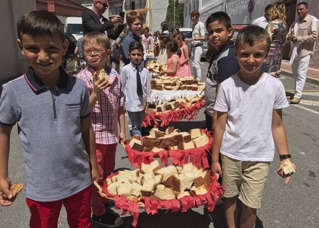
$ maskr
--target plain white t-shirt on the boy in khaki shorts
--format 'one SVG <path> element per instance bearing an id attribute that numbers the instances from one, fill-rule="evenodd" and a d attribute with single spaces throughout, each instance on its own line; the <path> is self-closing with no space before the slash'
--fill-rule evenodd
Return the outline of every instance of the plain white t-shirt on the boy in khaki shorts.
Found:
<path id="1" fill-rule="evenodd" d="M 220 84 L 214 106 L 228 117 L 220 153 L 240 161 L 273 161 L 273 110 L 288 106 L 281 81 L 268 73 L 253 86 L 237 74 L 226 79 Z"/>

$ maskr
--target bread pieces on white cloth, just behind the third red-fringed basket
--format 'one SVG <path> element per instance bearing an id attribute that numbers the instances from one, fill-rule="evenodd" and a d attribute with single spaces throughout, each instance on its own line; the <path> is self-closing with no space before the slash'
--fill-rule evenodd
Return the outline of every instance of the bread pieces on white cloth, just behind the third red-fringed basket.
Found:
<path id="1" fill-rule="evenodd" d="M 192 90 L 203 91 L 205 83 L 198 82 L 193 77 L 167 77 L 161 76 L 151 79 L 150 88 L 152 90 Z"/>

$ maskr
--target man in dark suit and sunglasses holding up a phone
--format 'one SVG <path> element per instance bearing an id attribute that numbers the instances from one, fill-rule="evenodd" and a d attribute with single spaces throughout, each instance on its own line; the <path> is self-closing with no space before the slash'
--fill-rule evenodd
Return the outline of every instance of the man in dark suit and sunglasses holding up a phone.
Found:
<path id="1" fill-rule="evenodd" d="M 103 14 L 108 9 L 108 0 L 94 0 L 93 10 L 87 10 L 82 13 L 82 24 L 84 28 L 84 35 L 88 32 L 101 32 L 105 33 L 109 39 L 115 40 L 122 32 L 124 26 L 124 18 L 115 16 L 109 21 Z M 114 24 L 118 23 L 115 30 Z"/>

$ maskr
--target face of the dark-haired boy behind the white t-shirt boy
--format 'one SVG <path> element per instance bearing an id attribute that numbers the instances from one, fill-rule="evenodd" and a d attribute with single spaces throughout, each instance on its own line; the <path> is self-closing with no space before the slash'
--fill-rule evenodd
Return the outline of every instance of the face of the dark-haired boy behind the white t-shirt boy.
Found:
<path id="1" fill-rule="evenodd" d="M 207 26 L 208 42 L 219 50 L 223 45 L 225 45 L 229 37 L 232 35 L 232 29 L 227 29 L 225 25 L 219 21 L 213 21 Z"/>

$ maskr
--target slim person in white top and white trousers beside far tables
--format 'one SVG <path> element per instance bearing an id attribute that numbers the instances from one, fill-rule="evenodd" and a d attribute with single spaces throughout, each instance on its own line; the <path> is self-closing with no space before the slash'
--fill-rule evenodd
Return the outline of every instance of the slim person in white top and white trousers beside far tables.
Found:
<path id="1" fill-rule="evenodd" d="M 186 43 L 191 42 L 192 48 L 192 66 L 194 69 L 194 78 L 197 81 L 202 79 L 202 72 L 200 69 L 200 59 L 203 54 L 203 41 L 205 40 L 205 25 L 199 21 L 199 12 L 193 11 L 191 13 L 193 24 L 193 37 L 185 40 Z"/>

